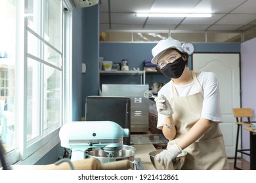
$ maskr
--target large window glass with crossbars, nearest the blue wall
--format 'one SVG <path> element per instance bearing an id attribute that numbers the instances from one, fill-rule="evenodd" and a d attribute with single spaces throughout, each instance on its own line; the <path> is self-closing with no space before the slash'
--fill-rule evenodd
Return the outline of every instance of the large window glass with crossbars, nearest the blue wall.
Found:
<path id="1" fill-rule="evenodd" d="M 36 18 L 28 18 L 27 142 L 45 137 L 62 124 L 62 1 L 29 1 Z M 40 12 L 43 12 L 40 14 Z M 41 20 L 37 24 L 36 20 Z M 40 21 L 39 21 L 40 22 Z"/>

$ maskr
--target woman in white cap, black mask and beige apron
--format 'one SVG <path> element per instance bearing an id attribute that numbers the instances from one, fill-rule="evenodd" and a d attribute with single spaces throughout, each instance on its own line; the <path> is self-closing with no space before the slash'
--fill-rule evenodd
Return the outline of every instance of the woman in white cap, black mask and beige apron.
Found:
<path id="1" fill-rule="evenodd" d="M 181 42 L 161 40 L 152 49 L 152 63 L 170 78 L 155 99 L 158 129 L 169 140 L 156 156 L 164 168 L 182 150 L 188 152 L 182 169 L 228 169 L 221 122 L 219 84 L 214 73 L 190 71 Z"/>

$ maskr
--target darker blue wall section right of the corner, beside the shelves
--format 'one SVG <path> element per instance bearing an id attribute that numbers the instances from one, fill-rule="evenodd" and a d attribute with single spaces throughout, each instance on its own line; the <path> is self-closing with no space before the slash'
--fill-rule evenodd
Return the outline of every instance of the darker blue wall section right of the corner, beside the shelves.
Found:
<path id="1" fill-rule="evenodd" d="M 85 100 L 89 95 L 98 95 L 99 75 L 99 6 L 84 8 L 83 10 L 83 63 L 86 64 L 86 73 L 83 74 L 83 85 L 80 90 L 83 91 L 81 97 L 82 115 L 85 116 Z M 81 65 L 80 65 L 81 66 Z M 80 67 L 81 68 L 81 67 Z M 80 69 L 81 71 L 81 69 Z M 75 71 L 79 72 L 79 71 Z M 79 116 L 81 119 L 82 116 Z"/>

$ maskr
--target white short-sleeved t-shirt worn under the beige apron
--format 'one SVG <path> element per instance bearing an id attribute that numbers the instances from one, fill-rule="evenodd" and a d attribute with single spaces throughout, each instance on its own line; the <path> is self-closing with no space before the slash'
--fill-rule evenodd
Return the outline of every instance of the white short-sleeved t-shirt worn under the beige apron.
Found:
<path id="1" fill-rule="evenodd" d="M 173 91 L 170 82 L 165 84 L 158 92 L 158 95 L 164 95 L 169 101 L 173 98 Z M 221 122 L 219 84 L 215 74 L 202 71 L 198 76 L 198 82 L 200 83 L 203 91 L 203 107 L 201 118 L 212 120 L 214 122 Z M 184 97 L 192 95 L 194 93 L 198 93 L 198 88 L 196 87 L 196 84 L 194 82 L 183 86 L 174 84 L 174 86 L 177 90 L 178 97 Z M 161 129 L 164 120 L 165 116 L 158 113 L 157 127 Z"/>

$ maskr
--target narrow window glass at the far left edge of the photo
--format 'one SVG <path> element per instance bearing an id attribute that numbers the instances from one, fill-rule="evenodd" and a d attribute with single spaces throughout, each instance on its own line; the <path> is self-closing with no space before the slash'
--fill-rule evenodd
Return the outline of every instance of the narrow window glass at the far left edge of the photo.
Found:
<path id="1" fill-rule="evenodd" d="M 5 150 L 14 149 L 16 4 L 0 1 L 0 139 Z M 8 29 L 7 29 L 8 27 Z"/>

